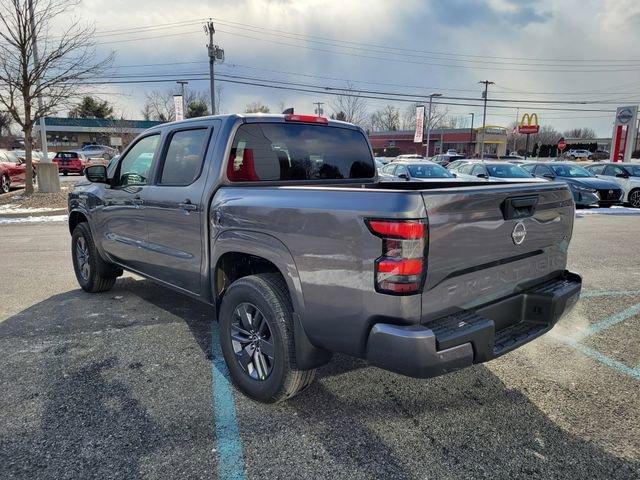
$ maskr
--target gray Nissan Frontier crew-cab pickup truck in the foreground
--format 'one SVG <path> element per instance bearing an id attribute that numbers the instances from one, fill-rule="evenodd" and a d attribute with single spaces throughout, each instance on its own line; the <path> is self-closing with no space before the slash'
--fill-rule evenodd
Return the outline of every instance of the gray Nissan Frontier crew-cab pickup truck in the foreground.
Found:
<path id="1" fill-rule="evenodd" d="M 212 305 L 235 385 L 290 398 L 333 352 L 419 378 L 509 352 L 577 301 L 562 183 L 381 183 L 364 132 L 305 115 L 152 128 L 69 196 L 88 292 L 123 270 Z"/>

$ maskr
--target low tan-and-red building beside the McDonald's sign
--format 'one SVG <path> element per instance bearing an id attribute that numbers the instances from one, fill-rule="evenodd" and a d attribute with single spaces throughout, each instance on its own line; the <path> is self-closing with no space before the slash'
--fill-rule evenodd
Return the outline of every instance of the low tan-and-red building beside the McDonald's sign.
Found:
<path id="1" fill-rule="evenodd" d="M 480 155 L 482 145 L 482 127 L 480 128 L 443 128 L 431 130 L 429 151 L 427 135 L 422 143 L 414 143 L 413 130 L 395 130 L 388 132 L 370 132 L 369 141 L 375 149 L 396 147 L 401 154 L 416 153 L 431 157 L 447 150 L 455 150 L 469 156 Z M 507 154 L 507 129 L 493 125 L 484 128 L 484 151 L 486 154 Z"/>

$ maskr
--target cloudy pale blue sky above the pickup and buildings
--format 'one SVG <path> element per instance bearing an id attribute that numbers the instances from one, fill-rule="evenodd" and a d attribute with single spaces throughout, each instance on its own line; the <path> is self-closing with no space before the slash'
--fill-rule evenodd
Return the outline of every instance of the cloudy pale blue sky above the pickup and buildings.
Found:
<path id="1" fill-rule="evenodd" d="M 474 113 L 478 126 L 478 82 L 489 80 L 488 125 L 510 125 L 519 108 L 536 112 L 541 125 L 610 136 L 616 106 L 640 102 L 637 0 L 84 0 L 52 29 L 95 25 L 97 57 L 115 53 L 101 81 L 164 81 L 91 86 L 135 119 L 146 93 L 175 88 L 178 78 L 208 91 L 210 17 L 225 51 L 216 65 L 225 113 L 256 101 L 298 113 L 319 101 L 331 113 L 335 97 L 325 87 L 351 83 L 384 97 L 367 99 L 371 112 L 440 93 L 439 102 L 457 105 L 439 108 L 465 121 Z M 224 81 L 256 78 L 319 93 Z"/>

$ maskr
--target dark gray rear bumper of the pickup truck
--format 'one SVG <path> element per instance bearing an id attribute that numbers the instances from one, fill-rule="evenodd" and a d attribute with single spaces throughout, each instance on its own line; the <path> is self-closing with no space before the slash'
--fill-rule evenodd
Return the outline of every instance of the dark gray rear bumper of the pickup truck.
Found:
<path id="1" fill-rule="evenodd" d="M 551 330 L 576 304 L 581 288 L 580 276 L 565 271 L 515 295 L 425 325 L 376 324 L 367 360 L 418 378 L 492 360 Z"/>

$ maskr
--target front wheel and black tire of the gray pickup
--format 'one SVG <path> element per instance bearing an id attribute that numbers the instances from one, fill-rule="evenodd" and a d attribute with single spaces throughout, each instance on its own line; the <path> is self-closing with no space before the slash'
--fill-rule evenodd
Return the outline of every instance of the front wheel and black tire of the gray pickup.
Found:
<path id="1" fill-rule="evenodd" d="M 102 259 L 86 222 L 79 223 L 73 230 L 71 259 L 78 283 L 90 293 L 110 290 L 122 275 L 121 269 Z"/>

